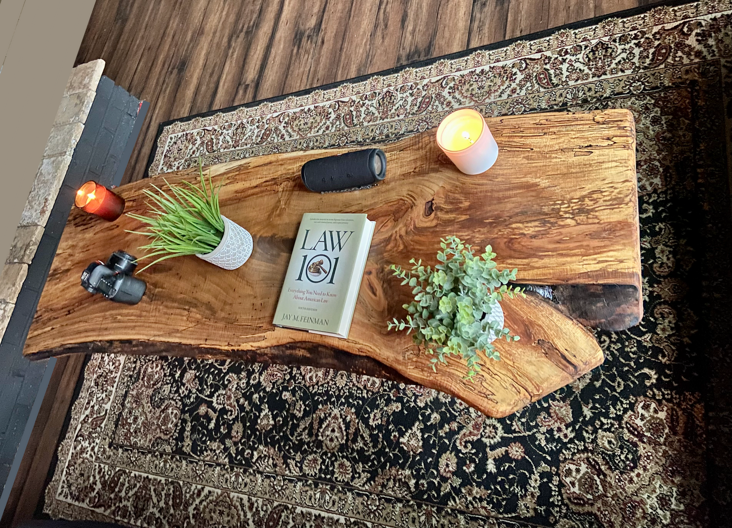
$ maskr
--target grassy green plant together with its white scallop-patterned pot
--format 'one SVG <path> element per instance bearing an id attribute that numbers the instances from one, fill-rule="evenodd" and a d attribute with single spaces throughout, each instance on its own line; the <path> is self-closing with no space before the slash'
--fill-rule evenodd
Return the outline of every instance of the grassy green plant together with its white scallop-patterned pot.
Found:
<path id="1" fill-rule="evenodd" d="M 146 235 L 152 241 L 140 249 L 146 250 L 144 258 L 158 257 L 143 269 L 173 257 L 195 254 L 206 262 L 224 269 L 236 269 L 252 254 L 252 235 L 221 214 L 219 209 L 219 188 L 214 189 L 211 175 L 206 184 L 203 177 L 203 161 L 198 159 L 198 184 L 182 181 L 181 186 L 170 187 L 168 194 L 157 186 L 156 191 L 144 189 L 150 200 L 153 216 L 129 213 L 147 225 L 147 231 L 129 231 Z"/>

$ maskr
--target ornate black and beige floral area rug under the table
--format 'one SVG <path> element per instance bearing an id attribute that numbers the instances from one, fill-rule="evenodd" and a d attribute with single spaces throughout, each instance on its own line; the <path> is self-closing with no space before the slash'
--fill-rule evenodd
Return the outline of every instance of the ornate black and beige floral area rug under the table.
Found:
<path id="1" fill-rule="evenodd" d="M 706 527 L 732 469 L 732 1 L 657 7 L 161 128 L 152 175 L 396 138 L 447 110 L 629 108 L 640 325 L 508 418 L 324 369 L 95 355 L 52 517 L 144 527 Z M 485 241 L 486 243 L 490 241 Z"/>

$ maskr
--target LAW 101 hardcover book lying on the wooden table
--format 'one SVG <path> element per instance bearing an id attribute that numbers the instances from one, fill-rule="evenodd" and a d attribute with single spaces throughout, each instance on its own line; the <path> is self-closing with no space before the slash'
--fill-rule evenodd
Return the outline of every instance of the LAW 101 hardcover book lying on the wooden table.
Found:
<path id="1" fill-rule="evenodd" d="M 365 214 L 302 215 L 272 323 L 347 339 L 375 225 Z"/>

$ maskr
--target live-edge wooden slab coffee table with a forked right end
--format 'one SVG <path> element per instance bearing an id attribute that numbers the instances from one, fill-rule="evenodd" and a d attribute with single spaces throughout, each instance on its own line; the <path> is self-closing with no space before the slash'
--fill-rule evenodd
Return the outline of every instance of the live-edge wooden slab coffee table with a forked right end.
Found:
<path id="1" fill-rule="evenodd" d="M 224 184 L 223 214 L 253 235 L 252 257 L 235 271 L 196 257 L 154 265 L 138 275 L 148 288 L 136 306 L 92 296 L 79 284 L 92 261 L 116 249 L 139 254 L 145 239 L 125 230 L 140 224 L 127 216 L 104 222 L 75 208 L 23 354 L 124 352 L 335 366 L 402 376 L 488 415 L 509 415 L 602 363 L 586 326 L 622 329 L 641 319 L 635 128 L 627 110 L 486 122 L 500 154 L 479 176 L 458 172 L 434 130 L 382 146 L 386 180 L 356 192 L 319 195 L 300 181 L 303 163 L 334 151 L 210 167 L 214 183 Z M 165 178 L 193 181 L 197 170 Z M 149 184 L 117 189 L 127 212 L 146 209 L 141 190 Z M 348 340 L 272 325 L 300 219 L 317 211 L 364 212 L 376 221 Z M 500 268 L 518 268 L 516 282 L 544 285 L 551 298 L 530 293 L 502 303 L 506 325 L 521 339 L 496 342 L 501 361 L 485 360 L 474 382 L 463 380 L 463 365 L 455 361 L 434 373 L 411 336 L 386 331 L 386 320 L 403 314 L 410 294 L 389 264 L 408 265 L 411 257 L 430 262 L 445 235 L 491 244 Z"/>

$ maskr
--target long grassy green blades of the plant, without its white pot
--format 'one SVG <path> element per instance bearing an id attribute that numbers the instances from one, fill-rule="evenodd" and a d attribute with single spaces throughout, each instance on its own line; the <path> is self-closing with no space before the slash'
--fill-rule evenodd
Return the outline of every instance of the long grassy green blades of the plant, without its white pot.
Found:
<path id="1" fill-rule="evenodd" d="M 188 254 L 206 254 L 216 249 L 224 234 L 224 222 L 219 209 L 220 189 L 214 189 L 209 173 L 208 183 L 203 176 L 203 160 L 198 158 L 198 184 L 183 180 L 173 186 L 163 178 L 170 188 L 165 192 L 152 185 L 157 192 L 144 189 L 152 216 L 128 213 L 127 216 L 147 225 L 146 231 L 127 231 L 152 238 L 149 244 L 139 249 L 148 253 L 138 260 L 158 257 L 140 271 L 173 257 Z M 162 255 L 162 256 L 160 256 Z M 138 271 L 139 273 L 139 271 Z"/>

